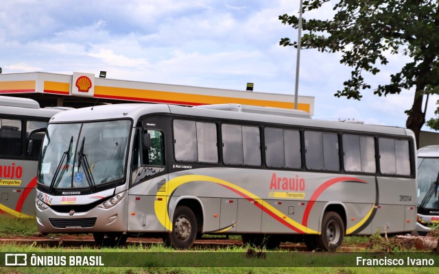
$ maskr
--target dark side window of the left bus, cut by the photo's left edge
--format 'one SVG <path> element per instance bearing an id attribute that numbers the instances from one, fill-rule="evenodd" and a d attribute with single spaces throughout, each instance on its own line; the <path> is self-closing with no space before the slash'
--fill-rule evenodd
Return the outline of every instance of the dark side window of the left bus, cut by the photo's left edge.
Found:
<path id="1" fill-rule="evenodd" d="M 0 155 L 21 156 L 21 121 L 0 119 Z"/>

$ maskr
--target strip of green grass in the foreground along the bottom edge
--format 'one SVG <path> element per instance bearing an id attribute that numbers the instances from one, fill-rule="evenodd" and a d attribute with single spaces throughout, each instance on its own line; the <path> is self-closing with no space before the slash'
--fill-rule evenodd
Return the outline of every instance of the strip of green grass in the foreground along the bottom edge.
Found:
<path id="1" fill-rule="evenodd" d="M 290 260 L 298 260 L 300 263 L 305 263 L 308 260 L 315 260 L 316 266 L 322 267 L 266 267 L 269 266 L 272 261 L 270 261 L 270 251 L 266 252 L 267 258 L 244 258 L 242 257 L 242 253 L 245 253 L 246 249 L 242 247 L 228 247 L 226 249 L 219 249 L 215 251 L 201 251 L 201 250 L 191 250 L 191 251 L 175 251 L 173 249 L 169 249 L 164 247 L 163 245 L 153 245 L 152 247 L 132 247 L 128 246 L 123 249 L 92 249 L 89 247 L 80 247 L 80 248 L 45 248 L 45 247 L 35 247 L 35 246 L 22 246 L 22 245 L 0 245 L 0 253 L 32 253 L 36 254 L 36 256 L 41 256 L 42 253 L 51 253 L 54 254 L 56 252 L 57 255 L 60 254 L 80 254 L 84 256 L 86 254 L 91 254 L 91 256 L 101 255 L 111 256 L 111 253 L 116 253 L 115 263 L 126 262 L 127 260 L 132 260 L 133 258 L 141 256 L 141 260 L 145 260 L 147 262 L 144 267 L 135 267 L 135 266 L 124 266 L 124 267 L 92 267 L 92 266 L 78 266 L 78 267 L 4 267 L 1 269 L 1 273 L 7 274 L 19 274 L 19 273 L 169 273 L 169 274 L 202 274 L 202 273 L 254 273 L 254 274 L 265 274 L 265 273 L 325 273 L 325 274 L 355 274 L 355 273 L 437 273 L 438 268 L 420 268 L 420 267 L 323 267 L 324 264 L 318 263 L 319 258 L 326 260 L 340 260 L 340 258 L 345 258 L 349 254 L 340 253 L 337 258 L 334 259 L 332 254 L 329 253 L 292 253 L 292 252 L 283 252 L 276 253 L 276 259 L 290 259 Z M 197 253 L 200 256 L 197 256 L 194 260 L 201 260 L 204 267 L 158 267 L 164 261 L 174 260 L 178 262 L 178 256 L 185 255 L 189 253 L 189 255 L 195 256 Z M 237 256 L 230 256 L 230 253 L 236 253 Z M 412 253 L 413 254 L 413 253 Z M 412 257 L 412 254 L 410 256 Z M 382 255 L 382 254 L 381 254 Z M 154 257 L 155 256 L 155 257 Z M 242 263 L 242 267 L 211 267 L 213 265 L 217 265 L 217 260 L 222 260 L 222 258 L 239 258 L 241 256 L 241 260 L 244 260 Z M 355 256 L 351 254 L 350 256 Z M 386 256 L 391 256 L 391 254 L 386 254 Z M 414 254 L 413 254 L 414 256 Z M 112 258 L 113 258 L 112 257 Z M 177 259 L 176 259 L 177 257 Z M 151 258 L 156 258 L 157 260 L 151 260 Z M 185 258 L 184 256 L 182 258 Z M 193 257 L 190 257 L 194 259 Z M 349 259 L 351 262 L 353 259 Z M 230 262 L 229 262 L 230 263 Z M 121 264 L 122 265 L 122 264 Z M 206 266 L 209 265 L 209 266 Z M 250 265 L 250 266 L 249 266 Z M 251 267 L 257 266 L 257 267 Z"/>

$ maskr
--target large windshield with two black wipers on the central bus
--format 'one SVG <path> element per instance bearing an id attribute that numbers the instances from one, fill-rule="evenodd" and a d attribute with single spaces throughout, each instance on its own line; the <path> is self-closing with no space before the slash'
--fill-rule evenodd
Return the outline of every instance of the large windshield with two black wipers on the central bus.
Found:
<path id="1" fill-rule="evenodd" d="M 92 188 L 125 175 L 129 120 L 51 124 L 43 142 L 38 183 Z"/>

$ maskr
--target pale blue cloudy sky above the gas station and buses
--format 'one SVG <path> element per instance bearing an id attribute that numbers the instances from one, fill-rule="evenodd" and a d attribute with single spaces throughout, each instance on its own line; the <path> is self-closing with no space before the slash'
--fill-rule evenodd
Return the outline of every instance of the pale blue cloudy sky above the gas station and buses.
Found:
<path id="1" fill-rule="evenodd" d="M 333 2 L 304 18 L 331 18 Z M 14 0 L 0 5 L 0 67 L 3 73 L 107 71 L 109 79 L 294 95 L 294 47 L 298 33 L 278 20 L 298 14 L 298 0 Z M 315 97 L 313 119 L 358 120 L 405 127 L 413 90 L 378 97 L 407 60 L 367 76 L 361 101 L 337 98 L 351 69 L 339 53 L 300 51 L 299 95 Z M 431 96 L 427 120 L 434 117 Z M 423 127 L 429 130 L 429 127 Z"/>

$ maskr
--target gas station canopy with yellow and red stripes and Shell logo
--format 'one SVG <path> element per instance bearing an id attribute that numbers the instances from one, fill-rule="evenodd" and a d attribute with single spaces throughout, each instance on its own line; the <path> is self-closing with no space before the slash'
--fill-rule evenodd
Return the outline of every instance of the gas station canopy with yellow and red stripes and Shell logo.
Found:
<path id="1" fill-rule="evenodd" d="M 101 74 L 104 72 L 101 72 Z M 294 109 L 294 95 L 155 84 L 95 77 L 91 73 L 62 75 L 55 73 L 0 74 L 0 95 L 25 97 L 40 103 L 41 108 L 64 106 L 82 108 L 108 103 L 169 103 L 176 105 L 210 105 L 237 103 Z M 298 110 L 314 114 L 314 97 L 299 96 Z"/>

